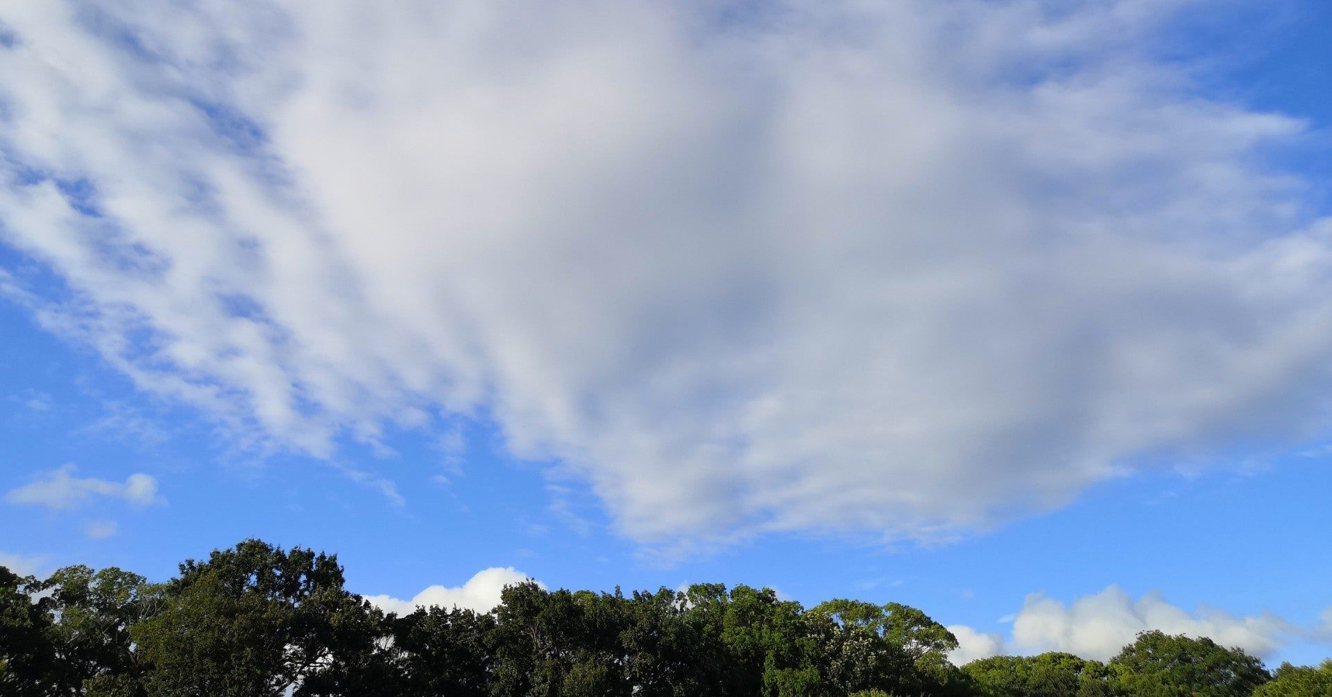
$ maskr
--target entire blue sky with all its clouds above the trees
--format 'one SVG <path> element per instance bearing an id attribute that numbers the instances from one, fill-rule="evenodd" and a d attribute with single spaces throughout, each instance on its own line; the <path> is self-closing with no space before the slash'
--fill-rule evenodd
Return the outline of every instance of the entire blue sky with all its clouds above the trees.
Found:
<path id="1" fill-rule="evenodd" d="M 0 564 L 1332 654 L 1320 0 L 0 5 Z"/>

